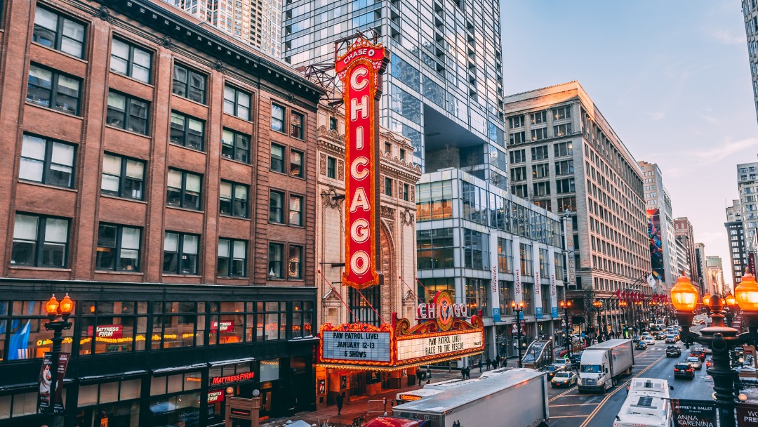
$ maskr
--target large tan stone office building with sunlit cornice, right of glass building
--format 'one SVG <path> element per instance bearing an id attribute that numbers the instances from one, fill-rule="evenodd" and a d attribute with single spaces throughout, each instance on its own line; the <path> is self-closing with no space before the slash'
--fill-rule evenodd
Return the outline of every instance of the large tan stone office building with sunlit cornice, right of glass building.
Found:
<path id="1" fill-rule="evenodd" d="M 576 281 L 567 294 L 585 316 L 575 323 L 591 325 L 601 300 L 603 328 L 618 331 L 615 291 L 653 293 L 637 161 L 576 81 L 507 96 L 506 116 L 511 193 L 571 218 Z"/>

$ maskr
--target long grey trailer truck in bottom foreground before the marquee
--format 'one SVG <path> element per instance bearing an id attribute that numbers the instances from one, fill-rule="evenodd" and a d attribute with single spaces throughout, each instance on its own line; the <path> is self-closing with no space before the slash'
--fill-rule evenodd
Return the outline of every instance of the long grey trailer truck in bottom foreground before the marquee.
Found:
<path id="1" fill-rule="evenodd" d="M 503 408 L 518 410 L 503 416 Z M 393 416 L 365 427 L 547 427 L 547 378 L 534 369 L 512 369 L 434 396 L 393 407 Z"/>

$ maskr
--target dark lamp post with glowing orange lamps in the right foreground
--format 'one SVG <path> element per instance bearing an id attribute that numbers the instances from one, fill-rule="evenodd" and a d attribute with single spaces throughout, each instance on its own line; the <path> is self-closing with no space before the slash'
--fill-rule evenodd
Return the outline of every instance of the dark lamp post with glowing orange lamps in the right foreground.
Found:
<path id="1" fill-rule="evenodd" d="M 707 295 L 706 295 L 707 297 Z M 722 427 L 735 427 L 735 391 L 734 381 L 737 378 L 737 372 L 731 369 L 730 354 L 734 347 L 741 344 L 758 344 L 758 284 L 755 277 L 748 270 L 742 283 L 735 288 L 735 308 L 739 306 L 743 311 L 745 325 L 748 331 L 738 334 L 737 329 L 729 328 L 724 325 L 724 315 L 722 310 L 727 303 L 731 303 L 731 298 L 722 298 L 719 295 L 706 298 L 703 297 L 703 303 L 708 307 L 712 325 L 700 329 L 700 334 L 690 331 L 692 319 L 694 319 L 694 309 L 697 306 L 697 288 L 694 287 L 689 279 L 684 276 L 684 272 L 676 281 L 676 285 L 671 290 L 671 300 L 676 309 L 676 317 L 681 326 L 681 341 L 684 346 L 689 348 L 693 343 L 703 344 L 713 350 L 713 366 L 706 369 L 708 375 L 713 378 L 713 390 L 716 391 L 716 406 L 719 408 L 719 419 Z"/>

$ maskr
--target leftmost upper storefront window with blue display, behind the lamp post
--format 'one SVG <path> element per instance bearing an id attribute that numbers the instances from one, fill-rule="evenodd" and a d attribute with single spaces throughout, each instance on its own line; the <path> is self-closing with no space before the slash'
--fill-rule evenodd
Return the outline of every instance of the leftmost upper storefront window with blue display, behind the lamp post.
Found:
<path id="1" fill-rule="evenodd" d="M 8 328 L 8 360 L 33 359 L 52 351 L 52 332 L 45 330 L 48 322 L 45 303 L 41 301 L 14 301 L 11 319 L 5 322 Z M 70 322 L 76 322 L 74 318 Z M 0 321 L 2 324 L 2 321 Z M 5 331 L 2 331 L 3 333 Z M 64 353 L 70 353 L 74 329 L 63 331 Z"/>

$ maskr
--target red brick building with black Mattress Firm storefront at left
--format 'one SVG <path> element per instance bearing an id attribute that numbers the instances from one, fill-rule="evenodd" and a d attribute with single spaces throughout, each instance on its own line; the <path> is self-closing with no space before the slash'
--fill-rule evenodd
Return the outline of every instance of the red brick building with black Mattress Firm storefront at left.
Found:
<path id="1" fill-rule="evenodd" d="M 147 0 L 0 0 L 0 425 L 42 420 L 53 293 L 66 425 L 213 425 L 245 372 L 265 416 L 315 407 L 321 94 Z"/>

